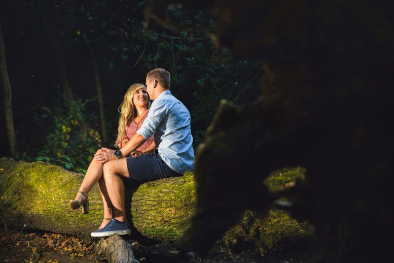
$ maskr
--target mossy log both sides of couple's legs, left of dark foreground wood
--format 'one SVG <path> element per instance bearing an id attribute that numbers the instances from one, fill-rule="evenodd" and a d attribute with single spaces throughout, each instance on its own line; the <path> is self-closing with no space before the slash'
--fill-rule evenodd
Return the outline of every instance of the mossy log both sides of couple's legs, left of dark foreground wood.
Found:
<path id="1" fill-rule="evenodd" d="M 34 228 L 90 238 L 102 220 L 98 187 L 89 192 L 90 210 L 68 208 L 83 175 L 38 161 L 0 159 L 0 222 L 12 228 Z M 194 209 L 193 174 L 142 184 L 132 197 L 132 220 L 137 230 L 154 240 L 176 240 L 187 224 L 178 223 Z"/>

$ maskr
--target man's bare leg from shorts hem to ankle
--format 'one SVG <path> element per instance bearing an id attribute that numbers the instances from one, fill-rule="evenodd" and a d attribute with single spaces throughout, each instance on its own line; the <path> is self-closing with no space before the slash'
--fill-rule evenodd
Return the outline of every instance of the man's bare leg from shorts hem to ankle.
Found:
<path id="1" fill-rule="evenodd" d="M 129 178 L 126 158 L 104 163 L 103 174 L 106 189 L 114 208 L 113 217 L 119 221 L 126 222 L 125 187 L 121 178 Z"/>

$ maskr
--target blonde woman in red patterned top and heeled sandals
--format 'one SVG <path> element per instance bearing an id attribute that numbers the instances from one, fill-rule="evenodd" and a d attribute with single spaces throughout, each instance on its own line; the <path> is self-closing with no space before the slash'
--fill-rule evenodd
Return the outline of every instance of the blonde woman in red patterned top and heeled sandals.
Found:
<path id="1" fill-rule="evenodd" d="M 123 147 L 129 139 L 135 135 L 136 131 L 141 127 L 142 122 L 144 122 L 145 118 L 148 116 L 149 106 L 150 102 L 146 86 L 140 83 L 131 85 L 124 95 L 123 103 L 119 106 L 119 108 L 121 108 L 121 114 L 119 117 L 118 138 L 116 139 L 115 146 L 118 146 L 119 148 Z M 99 149 L 95 156 L 105 149 L 106 148 Z M 131 155 L 138 156 L 141 153 L 150 153 L 154 150 L 155 143 L 153 142 L 153 138 L 150 138 L 135 152 L 132 152 Z M 75 196 L 75 200 L 71 200 L 68 203 L 68 206 L 73 210 L 82 206 L 83 213 L 88 213 L 88 193 L 92 189 L 93 185 L 98 182 L 104 206 L 104 218 L 99 227 L 100 229 L 111 221 L 113 207 L 110 203 L 108 192 L 105 188 L 104 178 L 102 176 L 103 163 L 99 163 L 95 158 L 96 157 L 94 157 L 90 162 L 85 178 L 77 195 Z"/>

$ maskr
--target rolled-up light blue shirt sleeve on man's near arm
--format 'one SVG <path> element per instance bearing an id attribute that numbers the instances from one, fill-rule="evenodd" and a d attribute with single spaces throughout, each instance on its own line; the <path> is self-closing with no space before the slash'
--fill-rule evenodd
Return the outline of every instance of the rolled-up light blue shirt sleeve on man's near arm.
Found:
<path id="1" fill-rule="evenodd" d="M 137 134 L 144 137 L 146 140 L 152 137 L 159 124 L 163 121 L 168 109 L 166 104 L 162 101 L 154 101 L 144 123 L 137 130 Z"/>

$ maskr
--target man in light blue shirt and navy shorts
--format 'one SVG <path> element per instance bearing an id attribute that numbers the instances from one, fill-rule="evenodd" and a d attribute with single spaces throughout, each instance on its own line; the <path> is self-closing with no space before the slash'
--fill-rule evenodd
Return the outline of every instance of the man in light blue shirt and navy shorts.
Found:
<path id="1" fill-rule="evenodd" d="M 182 176 L 194 166 L 193 138 L 190 113 L 170 92 L 170 74 L 154 69 L 147 74 L 147 91 L 154 102 L 148 117 L 127 144 L 120 150 L 103 148 L 95 156 L 104 163 L 103 176 L 114 207 L 114 219 L 104 228 L 91 233 L 92 237 L 125 235 L 130 233 L 125 212 L 125 188 L 122 178 L 152 181 Z M 154 153 L 123 158 L 132 153 L 153 135 Z M 113 160 L 108 162 L 109 160 Z"/>

